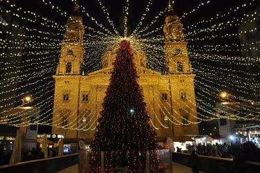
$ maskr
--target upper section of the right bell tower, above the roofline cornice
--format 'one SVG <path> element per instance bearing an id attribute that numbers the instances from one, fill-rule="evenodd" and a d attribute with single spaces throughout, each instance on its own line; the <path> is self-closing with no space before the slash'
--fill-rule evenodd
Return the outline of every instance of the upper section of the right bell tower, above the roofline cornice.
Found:
<path id="1" fill-rule="evenodd" d="M 192 73 L 187 55 L 187 42 L 185 42 L 183 34 L 183 24 L 174 12 L 172 0 L 169 0 L 163 33 L 165 33 L 166 72 L 168 74 Z"/>

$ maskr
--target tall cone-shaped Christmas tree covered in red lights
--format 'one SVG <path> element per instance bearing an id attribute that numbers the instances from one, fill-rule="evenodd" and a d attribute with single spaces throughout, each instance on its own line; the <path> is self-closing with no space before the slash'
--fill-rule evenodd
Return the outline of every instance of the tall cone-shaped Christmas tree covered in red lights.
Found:
<path id="1" fill-rule="evenodd" d="M 94 171 L 100 171 L 100 152 L 105 151 L 110 153 L 106 156 L 106 172 L 120 164 L 124 160 L 122 156 L 128 156 L 128 172 L 143 172 L 143 153 L 156 149 L 156 133 L 145 109 L 133 51 L 127 40 L 120 43 L 113 65 L 97 131 L 91 143 L 91 166 L 95 167 Z M 124 154 L 126 151 L 131 152 Z M 154 169 L 156 167 L 153 166 Z"/>

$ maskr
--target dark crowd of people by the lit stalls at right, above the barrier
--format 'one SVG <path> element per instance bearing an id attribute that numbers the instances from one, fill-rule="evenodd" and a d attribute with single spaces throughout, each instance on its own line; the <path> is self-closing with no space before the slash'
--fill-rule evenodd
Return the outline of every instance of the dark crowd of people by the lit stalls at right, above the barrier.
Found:
<path id="1" fill-rule="evenodd" d="M 222 145 L 207 143 L 207 145 L 189 145 L 187 149 L 190 153 L 194 151 L 198 155 L 222 158 L 242 157 L 245 161 L 260 162 L 260 149 L 252 142 L 232 143 L 231 145 L 227 143 L 223 143 Z M 180 152 L 180 148 L 177 148 L 177 152 Z"/>

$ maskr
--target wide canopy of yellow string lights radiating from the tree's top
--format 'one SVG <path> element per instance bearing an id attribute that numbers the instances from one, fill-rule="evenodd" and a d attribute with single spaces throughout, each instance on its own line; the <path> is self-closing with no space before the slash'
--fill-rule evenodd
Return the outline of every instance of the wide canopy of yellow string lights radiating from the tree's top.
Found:
<path id="1" fill-rule="evenodd" d="M 17 127 L 32 124 L 61 127 L 58 123 L 60 120 L 53 120 L 55 88 L 53 75 L 55 75 L 59 62 L 60 42 L 62 42 L 66 30 L 66 20 L 70 16 L 70 12 L 64 6 L 59 6 L 59 3 L 54 0 L 38 0 L 38 4 L 48 11 L 41 11 L 33 6 L 25 7 L 21 1 L 0 1 L 4 6 L 0 9 L 1 13 L 11 15 L 19 21 L 19 24 L 9 24 L 8 21 L 1 19 L 1 28 L 15 27 L 24 30 L 24 33 L 6 33 L 17 39 L 0 38 L 0 48 L 12 50 L 11 53 L 2 51 L 0 54 L 1 58 L 8 59 L 8 63 L 12 67 L 12 69 L 8 69 L 7 65 L 7 68 L 3 69 L 5 73 L 1 75 L 10 76 L 12 73 L 18 73 L 15 78 L 3 78 L 6 81 L 0 85 L 0 110 L 2 114 L 0 124 Z M 128 23 L 131 19 L 131 12 L 133 12 L 131 8 L 134 8 L 131 0 L 124 0 L 121 9 L 122 21 L 124 22 L 122 24 L 124 27 L 123 35 L 118 33 L 118 26 L 112 19 L 109 12 L 110 7 L 105 5 L 105 1 L 93 1 L 97 1 L 96 3 L 100 6 L 97 12 L 102 14 L 102 20 L 95 16 L 95 13 L 89 12 L 91 6 L 84 6 L 81 1 L 66 1 L 71 9 L 77 6 L 84 21 L 85 55 L 82 66 L 84 75 L 101 69 L 101 57 L 106 49 L 119 44 L 122 39 L 127 39 L 133 47 L 142 48 L 142 51 L 147 55 L 149 69 L 163 73 L 165 68 L 163 26 L 165 25 L 168 1 L 165 0 L 163 3 L 165 6 L 158 11 L 154 11 L 154 6 L 157 6 L 156 3 L 159 2 L 145 1 L 146 5 L 140 11 L 140 18 L 135 19 L 137 22 L 135 28 L 132 28 L 131 35 L 128 35 Z M 188 123 L 185 125 L 220 118 L 259 121 L 260 74 L 259 71 L 251 71 L 250 69 L 260 68 L 260 58 L 247 55 L 246 52 L 259 51 L 257 45 L 260 43 L 260 39 L 254 40 L 254 42 L 239 42 L 243 35 L 259 33 L 260 28 L 257 27 L 239 29 L 241 26 L 253 24 L 259 19 L 259 11 L 254 11 L 257 2 L 256 0 L 237 1 L 228 6 L 225 11 L 220 10 L 214 15 L 207 16 L 204 12 L 207 8 L 208 10 L 212 8 L 211 3 L 211 0 L 197 1 L 193 8 L 183 9 L 186 12 L 178 14 L 180 21 L 184 24 L 185 42 L 189 42 L 187 47 L 189 61 L 192 64 L 193 73 L 196 74 L 196 102 L 192 102 L 189 98 L 187 98 L 187 102 L 196 105 L 198 121 L 187 120 Z M 178 10 L 178 0 L 174 2 L 174 9 Z M 48 13 L 57 15 L 57 19 L 62 20 L 50 17 Z M 103 24 L 104 19 L 106 19 L 105 24 Z M 189 20 L 194 19 L 196 19 L 195 22 L 189 22 Z M 2 34 L 1 30 L 0 32 Z M 17 62 L 19 61 L 17 57 L 22 57 L 21 62 Z M 13 69 L 14 67 L 15 69 Z M 161 75 L 161 78 L 164 76 Z M 11 86 L 17 82 L 17 87 L 12 88 Z M 10 92 L 17 94 L 6 97 L 5 95 Z M 246 112 L 246 115 L 241 116 L 241 113 L 237 111 L 233 115 L 219 113 L 221 110 L 216 108 L 216 102 L 226 102 L 227 100 L 240 103 L 234 104 L 228 109 L 236 110 L 236 107 L 239 107 L 239 110 Z M 7 113 L 10 111 L 10 109 L 6 109 L 8 107 L 23 107 L 25 104 L 30 105 L 30 102 L 33 107 L 39 107 L 41 110 L 36 118 L 26 116 L 21 121 L 22 113 Z M 147 104 L 153 103 L 147 102 Z M 156 104 L 161 103 L 156 101 Z M 26 110 L 26 113 L 28 111 L 30 109 Z M 171 113 L 166 114 L 172 116 Z M 174 116 L 168 120 L 174 125 L 183 125 L 183 122 L 175 118 L 176 116 L 180 115 L 174 113 Z M 156 120 L 162 127 L 165 127 L 160 118 L 156 118 Z M 87 124 L 89 128 L 77 127 L 77 121 L 81 120 L 73 120 L 68 127 L 63 128 L 84 131 L 95 129 L 94 123 Z M 153 127 L 158 129 L 156 126 Z"/>

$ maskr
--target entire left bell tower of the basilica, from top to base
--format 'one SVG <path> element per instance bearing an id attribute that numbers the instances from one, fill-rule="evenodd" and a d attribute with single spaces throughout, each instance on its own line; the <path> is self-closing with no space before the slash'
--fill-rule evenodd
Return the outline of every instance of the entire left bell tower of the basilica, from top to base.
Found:
<path id="1" fill-rule="evenodd" d="M 84 63 L 84 25 L 75 8 L 68 18 L 61 44 L 61 55 L 55 79 L 53 103 L 53 134 L 67 139 L 78 138 L 76 129 L 80 124 L 81 81 L 84 78 L 80 66 Z"/>

